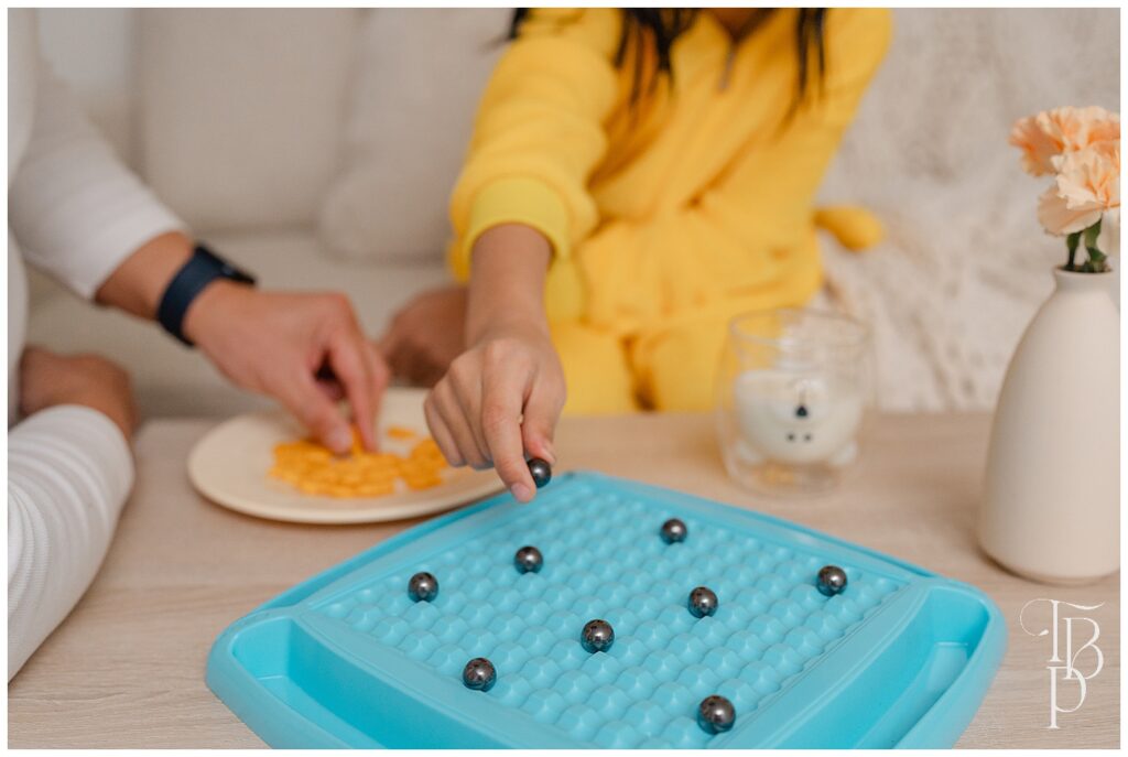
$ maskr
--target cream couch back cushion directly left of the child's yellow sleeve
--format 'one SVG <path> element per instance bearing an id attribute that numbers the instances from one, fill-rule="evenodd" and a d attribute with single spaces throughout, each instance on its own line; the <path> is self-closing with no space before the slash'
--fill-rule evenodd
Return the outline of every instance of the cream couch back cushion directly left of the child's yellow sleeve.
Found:
<path id="1" fill-rule="evenodd" d="M 344 257 L 439 261 L 447 202 L 512 10 L 380 8 L 364 21 L 343 173 L 321 208 Z"/>

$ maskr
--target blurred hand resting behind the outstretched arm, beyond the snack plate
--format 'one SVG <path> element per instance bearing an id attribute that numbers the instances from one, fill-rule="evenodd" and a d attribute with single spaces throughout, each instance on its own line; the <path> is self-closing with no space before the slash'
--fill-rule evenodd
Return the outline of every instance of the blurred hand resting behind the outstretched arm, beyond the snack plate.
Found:
<path id="1" fill-rule="evenodd" d="M 377 346 L 391 372 L 432 387 L 466 349 L 466 287 L 423 292 L 404 306 Z"/>

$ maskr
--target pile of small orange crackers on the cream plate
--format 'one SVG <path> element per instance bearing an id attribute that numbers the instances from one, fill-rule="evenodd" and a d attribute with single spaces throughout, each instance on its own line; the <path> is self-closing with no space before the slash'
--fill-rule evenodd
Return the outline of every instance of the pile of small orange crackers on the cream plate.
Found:
<path id="1" fill-rule="evenodd" d="M 393 426 L 388 435 L 409 439 L 420 434 L 411 429 Z M 352 451 L 335 457 L 310 439 L 288 441 L 274 447 L 274 467 L 270 475 L 291 484 L 306 494 L 323 496 L 384 496 L 396 491 L 402 479 L 408 488 L 423 490 L 442 483 L 447 461 L 434 440 L 418 441 L 406 457 L 393 452 L 369 452 L 353 430 Z"/>

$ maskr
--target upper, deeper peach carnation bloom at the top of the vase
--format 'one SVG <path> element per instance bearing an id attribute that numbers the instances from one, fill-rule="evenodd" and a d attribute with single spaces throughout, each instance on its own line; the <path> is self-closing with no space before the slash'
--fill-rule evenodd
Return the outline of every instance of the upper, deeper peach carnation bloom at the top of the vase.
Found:
<path id="1" fill-rule="evenodd" d="M 1120 139 L 1120 115 L 1102 107 L 1066 106 L 1019 118 L 1010 143 L 1022 150 L 1022 167 L 1031 176 L 1052 174 L 1055 159 L 1098 142 Z"/>

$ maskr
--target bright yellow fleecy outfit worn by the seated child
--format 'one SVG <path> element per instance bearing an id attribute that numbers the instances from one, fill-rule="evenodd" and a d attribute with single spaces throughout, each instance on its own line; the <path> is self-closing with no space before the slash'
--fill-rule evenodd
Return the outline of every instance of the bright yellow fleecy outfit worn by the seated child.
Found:
<path id="1" fill-rule="evenodd" d="M 852 247 L 880 237 L 864 212 L 813 199 L 884 55 L 889 11 L 828 11 L 826 76 L 792 111 L 796 14 L 777 10 L 734 51 L 697 14 L 672 83 L 651 86 L 649 47 L 641 81 L 632 47 L 616 65 L 613 8 L 536 10 L 497 64 L 451 200 L 451 265 L 465 279 L 474 241 L 501 223 L 548 238 L 570 410 L 707 407 L 728 318 L 819 289 L 817 225 Z"/>

